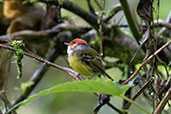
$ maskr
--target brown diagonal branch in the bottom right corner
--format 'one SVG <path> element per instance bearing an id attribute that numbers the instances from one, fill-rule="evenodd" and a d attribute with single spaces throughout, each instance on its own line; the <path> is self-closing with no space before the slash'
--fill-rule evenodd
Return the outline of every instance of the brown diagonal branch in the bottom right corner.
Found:
<path id="1" fill-rule="evenodd" d="M 171 100 L 171 88 L 168 90 L 160 104 L 157 106 L 156 110 L 154 111 L 154 114 L 161 114 L 164 106 L 169 100 Z"/>

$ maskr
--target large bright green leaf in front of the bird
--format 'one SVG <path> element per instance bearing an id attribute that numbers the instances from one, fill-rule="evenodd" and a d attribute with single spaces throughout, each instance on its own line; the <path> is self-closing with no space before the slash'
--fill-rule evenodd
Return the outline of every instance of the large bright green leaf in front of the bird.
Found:
<path id="1" fill-rule="evenodd" d="M 86 81 L 73 81 L 66 82 L 63 84 L 59 84 L 53 86 L 52 88 L 43 90 L 26 100 L 16 104 L 13 108 L 11 108 L 8 112 L 13 110 L 15 107 L 20 105 L 25 105 L 34 100 L 37 97 L 59 93 L 59 92 L 89 92 L 89 93 L 102 93 L 112 96 L 122 96 L 126 90 L 131 87 L 131 84 L 120 85 L 118 82 L 112 82 L 111 80 L 86 80 Z"/>

